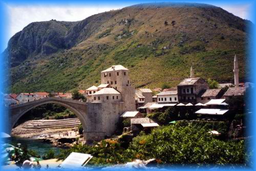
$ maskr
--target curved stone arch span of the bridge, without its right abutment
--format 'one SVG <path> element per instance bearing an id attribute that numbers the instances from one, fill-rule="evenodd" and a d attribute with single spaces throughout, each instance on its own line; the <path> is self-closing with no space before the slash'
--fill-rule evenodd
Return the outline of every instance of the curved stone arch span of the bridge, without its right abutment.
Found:
<path id="1" fill-rule="evenodd" d="M 17 121 L 23 115 L 25 115 L 28 111 L 36 108 L 37 106 L 48 104 L 48 103 L 59 104 L 71 110 L 80 120 L 83 130 L 87 130 L 88 124 L 87 124 L 87 116 L 86 116 L 86 111 L 87 111 L 86 102 L 50 97 L 50 98 L 35 100 L 35 101 L 11 106 L 9 110 L 10 110 L 10 113 L 13 113 L 13 114 L 9 116 L 10 117 L 9 132 L 11 133 L 11 130 L 13 129 Z"/>

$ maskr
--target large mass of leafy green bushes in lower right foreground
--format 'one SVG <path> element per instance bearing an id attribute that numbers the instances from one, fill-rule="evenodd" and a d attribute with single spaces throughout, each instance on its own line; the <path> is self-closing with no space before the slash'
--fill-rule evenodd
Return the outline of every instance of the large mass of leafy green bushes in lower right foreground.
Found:
<path id="1" fill-rule="evenodd" d="M 138 159 L 155 158 L 171 165 L 245 165 L 246 157 L 243 140 L 221 141 L 191 124 L 163 126 L 150 135 L 138 136 L 130 150 Z"/>

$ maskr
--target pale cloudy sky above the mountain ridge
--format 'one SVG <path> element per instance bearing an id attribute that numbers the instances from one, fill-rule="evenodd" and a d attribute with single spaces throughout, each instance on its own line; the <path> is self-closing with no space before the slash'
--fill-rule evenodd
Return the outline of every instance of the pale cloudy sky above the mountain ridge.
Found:
<path id="1" fill-rule="evenodd" d="M 63 21 L 77 21 L 82 20 L 93 14 L 100 12 L 110 11 L 113 9 L 120 9 L 126 6 L 146 3 L 146 2 L 166 2 L 166 1 L 111 1 L 111 3 L 106 4 L 105 2 L 97 1 L 86 1 L 86 3 L 64 3 L 58 4 L 58 1 L 47 4 L 35 3 L 18 3 L 10 1 L 6 3 L 6 9 L 8 14 L 8 32 L 6 35 L 6 40 L 4 42 L 4 48 L 7 47 L 8 40 L 17 32 L 21 31 L 24 27 L 32 22 L 41 22 L 51 19 L 63 20 Z M 65 2 L 65 1 L 64 1 Z M 185 1 L 183 1 L 185 2 Z M 189 1 L 192 2 L 192 1 Z M 250 20 L 250 3 L 244 1 L 243 3 L 236 2 L 226 2 L 214 1 L 214 2 L 201 2 L 197 3 L 211 4 L 221 7 L 234 15 L 237 15 L 244 19 Z"/>

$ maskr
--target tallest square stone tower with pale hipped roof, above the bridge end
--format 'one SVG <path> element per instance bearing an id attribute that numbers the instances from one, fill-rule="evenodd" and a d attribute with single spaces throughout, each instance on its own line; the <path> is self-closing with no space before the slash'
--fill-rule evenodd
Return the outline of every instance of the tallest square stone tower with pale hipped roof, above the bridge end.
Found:
<path id="1" fill-rule="evenodd" d="M 136 111 L 135 88 L 131 86 L 129 70 L 121 65 L 101 71 L 101 83 L 121 93 L 125 111 Z"/>

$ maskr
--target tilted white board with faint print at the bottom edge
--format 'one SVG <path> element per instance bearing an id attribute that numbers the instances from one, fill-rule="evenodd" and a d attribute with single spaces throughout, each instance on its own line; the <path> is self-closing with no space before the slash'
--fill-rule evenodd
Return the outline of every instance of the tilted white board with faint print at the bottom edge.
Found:
<path id="1" fill-rule="evenodd" d="M 86 165 L 93 156 L 89 154 L 72 152 L 61 164 L 61 168 L 81 168 Z"/>

